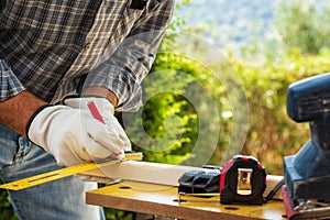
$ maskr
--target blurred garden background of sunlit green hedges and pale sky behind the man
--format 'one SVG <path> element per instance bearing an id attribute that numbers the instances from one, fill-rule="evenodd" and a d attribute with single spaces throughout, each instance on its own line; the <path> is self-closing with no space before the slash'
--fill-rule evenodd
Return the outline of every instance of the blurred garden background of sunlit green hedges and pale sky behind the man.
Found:
<path id="1" fill-rule="evenodd" d="M 143 82 L 144 108 L 118 116 L 134 150 L 145 161 L 196 166 L 246 154 L 282 175 L 283 157 L 309 139 L 309 124 L 286 114 L 287 88 L 330 70 L 329 23 L 326 0 L 177 0 Z M 0 219 L 15 219 L 6 191 Z"/>

